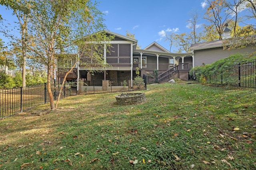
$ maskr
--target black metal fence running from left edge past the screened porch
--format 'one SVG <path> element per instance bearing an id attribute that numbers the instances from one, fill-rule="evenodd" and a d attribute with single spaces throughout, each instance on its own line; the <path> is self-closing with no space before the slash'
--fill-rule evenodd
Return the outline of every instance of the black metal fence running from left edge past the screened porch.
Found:
<path id="1" fill-rule="evenodd" d="M 134 78 L 133 78 L 134 80 Z M 91 80 L 64 83 L 60 92 L 62 82 L 51 81 L 51 90 L 54 100 L 78 94 L 96 94 L 111 92 L 127 92 L 132 90 L 145 90 L 146 82 L 133 81 L 131 78 L 117 78 L 110 80 Z M 49 102 L 49 94 L 46 83 L 28 87 L 11 88 L 0 90 L 0 119 L 26 111 L 32 107 Z"/>

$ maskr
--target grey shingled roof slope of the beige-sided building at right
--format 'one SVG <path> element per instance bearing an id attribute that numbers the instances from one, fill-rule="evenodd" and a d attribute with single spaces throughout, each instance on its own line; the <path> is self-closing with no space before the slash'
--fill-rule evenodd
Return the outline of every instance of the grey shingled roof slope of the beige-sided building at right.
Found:
<path id="1" fill-rule="evenodd" d="M 223 47 L 223 41 L 222 40 L 191 44 L 190 50 L 212 49 L 212 48 L 217 48 L 217 47 Z"/>

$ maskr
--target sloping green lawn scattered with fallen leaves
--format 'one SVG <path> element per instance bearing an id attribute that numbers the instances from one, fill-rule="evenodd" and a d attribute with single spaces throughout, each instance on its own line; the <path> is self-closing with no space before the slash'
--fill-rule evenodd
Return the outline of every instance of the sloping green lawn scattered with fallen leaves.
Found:
<path id="1" fill-rule="evenodd" d="M 146 102 L 70 96 L 0 120 L 0 169 L 256 169 L 256 89 L 148 85 Z M 41 113 L 41 114 L 39 114 Z"/>

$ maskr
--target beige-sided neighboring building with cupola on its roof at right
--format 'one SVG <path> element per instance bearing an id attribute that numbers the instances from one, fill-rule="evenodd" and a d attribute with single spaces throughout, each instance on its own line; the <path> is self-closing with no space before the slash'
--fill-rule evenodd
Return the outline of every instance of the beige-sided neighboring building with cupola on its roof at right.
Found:
<path id="1" fill-rule="evenodd" d="M 230 38 L 229 32 L 230 29 L 228 28 L 224 30 L 223 39 Z M 224 50 L 223 41 L 225 40 L 192 44 L 190 50 L 194 53 L 193 67 L 202 66 L 203 64 L 211 64 L 236 53 L 247 55 L 256 51 L 255 44 L 247 45 L 245 48 L 241 49 Z"/>

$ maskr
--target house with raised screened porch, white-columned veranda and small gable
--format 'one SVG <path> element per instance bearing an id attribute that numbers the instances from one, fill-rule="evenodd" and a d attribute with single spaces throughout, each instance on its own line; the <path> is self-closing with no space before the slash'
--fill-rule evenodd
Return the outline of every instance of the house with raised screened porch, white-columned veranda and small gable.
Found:
<path id="1" fill-rule="evenodd" d="M 114 39 L 110 41 L 110 49 L 104 49 L 104 53 L 102 53 L 102 57 L 110 66 L 102 68 L 90 66 L 90 64 L 86 64 L 85 66 L 78 63 L 70 74 L 68 74 L 66 80 L 82 80 L 90 85 L 92 80 L 130 77 L 130 85 L 132 86 L 132 80 L 136 76 L 137 68 L 140 71 L 140 76 L 153 73 L 154 70 L 158 70 L 160 74 L 168 70 L 180 70 L 178 77 L 188 80 L 188 72 L 192 67 L 192 52 L 170 53 L 156 42 L 151 43 L 144 49 L 136 49 L 138 40 L 108 30 L 104 31 L 107 35 L 114 35 Z M 63 80 L 66 72 L 76 63 L 76 55 L 70 55 L 70 60 L 66 63 L 58 61 L 56 72 L 58 80 Z M 90 62 L 90 57 L 82 56 L 82 60 Z M 90 70 L 99 70 L 101 72 L 91 74 Z M 175 73 L 177 72 L 175 71 Z M 170 74 L 168 78 L 170 78 Z M 119 86 L 120 84 L 116 85 Z"/>

